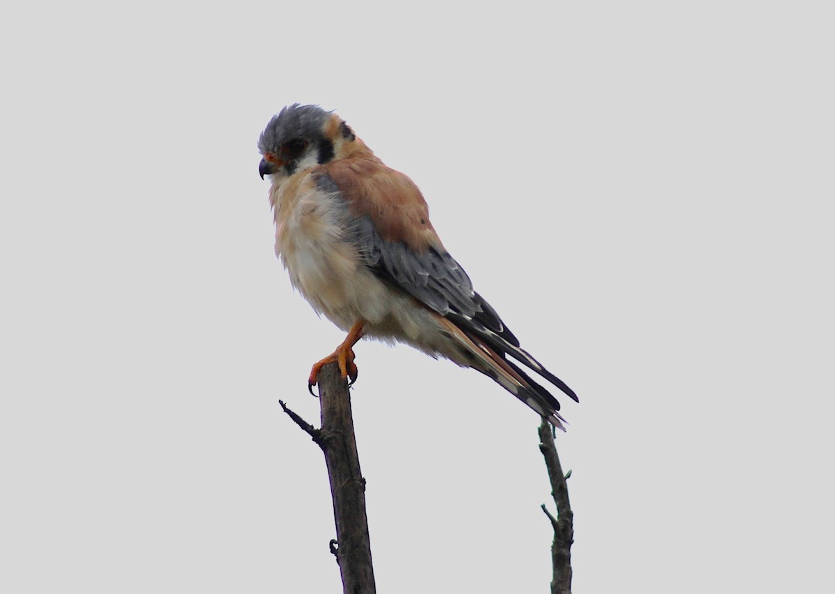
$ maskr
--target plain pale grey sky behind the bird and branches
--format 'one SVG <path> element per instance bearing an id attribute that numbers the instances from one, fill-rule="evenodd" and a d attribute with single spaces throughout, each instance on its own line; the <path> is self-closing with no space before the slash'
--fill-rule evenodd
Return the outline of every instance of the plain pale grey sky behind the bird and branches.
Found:
<path id="1" fill-rule="evenodd" d="M 0 591 L 340 591 L 256 140 L 336 109 L 580 396 L 574 591 L 832 591 L 826 3 L 6 8 Z M 538 419 L 357 346 L 378 591 L 547 591 Z"/>

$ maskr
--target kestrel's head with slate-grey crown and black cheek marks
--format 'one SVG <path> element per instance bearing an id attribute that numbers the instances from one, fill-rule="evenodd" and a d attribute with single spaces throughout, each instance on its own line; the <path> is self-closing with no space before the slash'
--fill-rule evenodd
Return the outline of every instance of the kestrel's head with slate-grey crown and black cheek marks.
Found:
<path id="1" fill-rule="evenodd" d="M 258 166 L 264 175 L 284 178 L 340 158 L 347 145 L 357 140 L 352 129 L 337 114 L 318 105 L 288 105 L 275 115 L 261 133 Z"/>

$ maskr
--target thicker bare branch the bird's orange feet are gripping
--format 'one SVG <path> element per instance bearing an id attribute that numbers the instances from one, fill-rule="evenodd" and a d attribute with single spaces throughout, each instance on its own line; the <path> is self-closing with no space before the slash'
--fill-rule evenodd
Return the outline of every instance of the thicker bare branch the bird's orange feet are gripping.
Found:
<path id="1" fill-rule="evenodd" d="M 301 417 L 281 407 L 301 429 L 311 435 L 325 454 L 331 481 L 333 516 L 337 525 L 336 542 L 331 552 L 337 556 L 344 594 L 375 594 L 371 559 L 371 540 L 365 503 L 365 479 L 360 471 L 357 439 L 351 414 L 348 385 L 337 363 L 328 363 L 318 375 L 321 429 L 306 424 Z"/>

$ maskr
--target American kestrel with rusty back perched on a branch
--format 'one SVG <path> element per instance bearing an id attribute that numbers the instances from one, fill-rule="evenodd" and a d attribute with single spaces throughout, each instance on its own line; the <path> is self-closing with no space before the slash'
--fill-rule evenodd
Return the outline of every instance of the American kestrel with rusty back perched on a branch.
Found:
<path id="1" fill-rule="evenodd" d="M 347 332 L 316 363 L 357 378 L 362 337 L 407 343 L 493 378 L 559 429 L 559 402 L 518 363 L 577 400 L 574 391 L 519 347 L 498 313 L 429 222 L 417 185 L 383 164 L 337 115 L 290 105 L 258 141 L 258 171 L 270 175 L 276 254 L 313 309 Z"/>

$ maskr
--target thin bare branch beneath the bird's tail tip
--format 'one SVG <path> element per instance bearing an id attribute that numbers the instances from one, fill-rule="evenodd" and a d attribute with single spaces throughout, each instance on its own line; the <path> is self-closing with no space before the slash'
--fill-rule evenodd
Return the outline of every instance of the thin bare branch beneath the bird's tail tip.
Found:
<path id="1" fill-rule="evenodd" d="M 548 477 L 551 480 L 551 495 L 557 505 L 557 517 L 554 518 L 542 504 L 542 510 L 554 528 L 554 542 L 551 543 L 551 565 L 553 578 L 551 594 L 571 594 L 571 545 L 574 543 L 574 513 L 569 503 L 567 478 L 559 464 L 557 446 L 554 443 L 554 429 L 544 418 L 539 425 L 539 451 L 545 459 Z"/>

